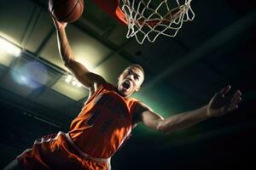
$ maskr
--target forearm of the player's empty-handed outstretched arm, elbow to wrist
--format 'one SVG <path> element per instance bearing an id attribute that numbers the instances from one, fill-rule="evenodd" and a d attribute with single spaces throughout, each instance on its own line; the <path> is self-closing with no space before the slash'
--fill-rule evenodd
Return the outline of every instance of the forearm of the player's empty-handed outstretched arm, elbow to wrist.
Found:
<path id="1" fill-rule="evenodd" d="M 159 130 L 165 133 L 171 133 L 202 122 L 207 118 L 209 116 L 207 116 L 207 105 L 205 105 L 197 110 L 183 112 L 161 120 L 159 122 Z"/>

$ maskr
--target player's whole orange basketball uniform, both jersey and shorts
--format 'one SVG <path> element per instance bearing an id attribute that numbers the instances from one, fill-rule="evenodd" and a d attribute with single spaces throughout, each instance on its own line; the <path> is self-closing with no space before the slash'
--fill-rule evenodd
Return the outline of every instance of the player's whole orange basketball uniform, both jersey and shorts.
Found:
<path id="1" fill-rule="evenodd" d="M 111 84 L 96 90 L 68 133 L 37 139 L 17 160 L 23 169 L 109 170 L 110 157 L 131 133 L 136 99 L 125 99 Z"/>

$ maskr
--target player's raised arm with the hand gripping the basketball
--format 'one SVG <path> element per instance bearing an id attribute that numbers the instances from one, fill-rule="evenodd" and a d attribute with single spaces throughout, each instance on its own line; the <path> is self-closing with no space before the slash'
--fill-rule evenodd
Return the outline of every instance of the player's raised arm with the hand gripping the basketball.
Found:
<path id="1" fill-rule="evenodd" d="M 59 22 L 58 20 L 55 20 L 54 17 L 52 17 L 52 19 L 55 23 L 59 53 L 67 69 L 71 71 L 73 75 L 79 80 L 79 82 L 84 84 L 84 86 L 87 88 L 94 89 L 97 88 L 100 84 L 104 83 L 105 80 L 101 76 L 90 72 L 84 65 L 79 63 L 74 58 L 72 49 L 70 48 L 69 42 L 67 40 L 67 34 L 65 30 L 67 23 Z"/>

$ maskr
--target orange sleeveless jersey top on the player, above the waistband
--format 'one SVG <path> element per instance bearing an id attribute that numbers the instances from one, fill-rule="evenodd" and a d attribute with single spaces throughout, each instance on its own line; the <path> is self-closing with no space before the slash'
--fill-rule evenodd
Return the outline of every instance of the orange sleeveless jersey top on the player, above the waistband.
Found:
<path id="1" fill-rule="evenodd" d="M 84 104 L 71 123 L 73 142 L 90 156 L 109 158 L 131 133 L 137 99 L 120 96 L 111 84 L 103 84 Z"/>

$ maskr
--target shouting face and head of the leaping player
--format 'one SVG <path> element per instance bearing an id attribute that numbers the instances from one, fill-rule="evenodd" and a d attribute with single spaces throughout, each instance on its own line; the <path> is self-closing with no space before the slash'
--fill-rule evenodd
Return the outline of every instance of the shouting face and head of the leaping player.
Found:
<path id="1" fill-rule="evenodd" d="M 118 90 L 122 96 L 130 96 L 138 91 L 144 80 L 143 71 L 137 67 L 128 67 L 119 76 Z"/>

